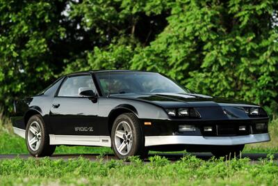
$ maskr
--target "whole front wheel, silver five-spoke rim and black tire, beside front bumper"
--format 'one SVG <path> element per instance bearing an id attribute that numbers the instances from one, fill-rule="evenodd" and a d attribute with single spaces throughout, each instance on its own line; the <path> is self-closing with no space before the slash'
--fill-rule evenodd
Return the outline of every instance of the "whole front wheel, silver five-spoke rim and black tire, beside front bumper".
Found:
<path id="1" fill-rule="evenodd" d="M 131 113 L 118 116 L 111 131 L 112 148 L 115 155 L 124 159 L 138 155 L 144 159 L 147 157 L 145 139 L 138 118 Z"/>

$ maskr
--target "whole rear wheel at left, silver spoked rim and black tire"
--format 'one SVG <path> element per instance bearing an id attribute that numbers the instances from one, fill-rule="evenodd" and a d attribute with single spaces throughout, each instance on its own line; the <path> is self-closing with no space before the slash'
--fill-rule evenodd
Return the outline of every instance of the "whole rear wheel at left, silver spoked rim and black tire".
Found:
<path id="1" fill-rule="evenodd" d="M 49 134 L 40 115 L 31 116 L 25 133 L 28 151 L 33 156 L 50 156 L 56 146 L 49 145 Z"/>

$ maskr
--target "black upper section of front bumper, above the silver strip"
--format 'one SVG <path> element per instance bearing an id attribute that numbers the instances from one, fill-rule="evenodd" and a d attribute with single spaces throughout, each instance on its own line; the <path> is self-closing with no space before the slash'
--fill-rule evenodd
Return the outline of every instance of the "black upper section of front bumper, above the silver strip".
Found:
<path id="1" fill-rule="evenodd" d="M 250 118 L 250 119 L 224 119 L 224 120 L 206 120 L 206 119 L 188 119 L 188 120 L 149 120 L 141 119 L 145 136 L 205 136 L 205 137 L 231 137 L 245 136 L 249 134 L 268 133 L 268 127 L 264 130 L 256 130 L 256 123 L 265 123 L 268 125 L 268 118 Z M 152 125 L 144 125 L 144 122 L 151 122 Z M 193 132 L 179 132 L 179 125 L 194 125 Z M 245 131 L 240 131 L 239 126 L 245 126 Z M 212 132 L 205 132 L 204 127 L 213 127 Z"/>

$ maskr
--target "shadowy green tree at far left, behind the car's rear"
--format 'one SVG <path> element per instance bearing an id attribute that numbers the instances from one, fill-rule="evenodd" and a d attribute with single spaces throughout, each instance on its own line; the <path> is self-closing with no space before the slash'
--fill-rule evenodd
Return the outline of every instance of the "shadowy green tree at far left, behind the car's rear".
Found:
<path id="1" fill-rule="evenodd" d="M 41 90 L 86 45 L 74 38 L 67 1 L 0 1 L 0 104 Z M 74 45 L 73 45 L 74 43 Z M 80 45 L 80 46 L 79 46 Z"/>

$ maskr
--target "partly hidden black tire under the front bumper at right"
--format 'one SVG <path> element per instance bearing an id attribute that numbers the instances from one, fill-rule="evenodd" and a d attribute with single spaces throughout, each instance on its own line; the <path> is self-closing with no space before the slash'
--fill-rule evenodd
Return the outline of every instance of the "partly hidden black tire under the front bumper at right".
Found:
<path id="1" fill-rule="evenodd" d="M 226 157 L 227 159 L 238 157 L 243 151 L 244 145 L 238 146 L 218 146 L 211 151 L 215 157 Z"/>

